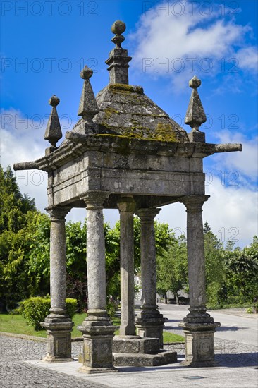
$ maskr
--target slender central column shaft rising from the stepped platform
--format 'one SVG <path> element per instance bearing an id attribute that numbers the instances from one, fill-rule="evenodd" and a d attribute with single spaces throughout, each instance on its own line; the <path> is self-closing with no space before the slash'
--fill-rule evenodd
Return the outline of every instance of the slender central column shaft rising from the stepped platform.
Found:
<path id="1" fill-rule="evenodd" d="M 120 335 L 135 336 L 135 292 L 133 251 L 133 198 L 121 198 L 120 212 L 120 271 L 121 271 L 121 326 Z"/>

